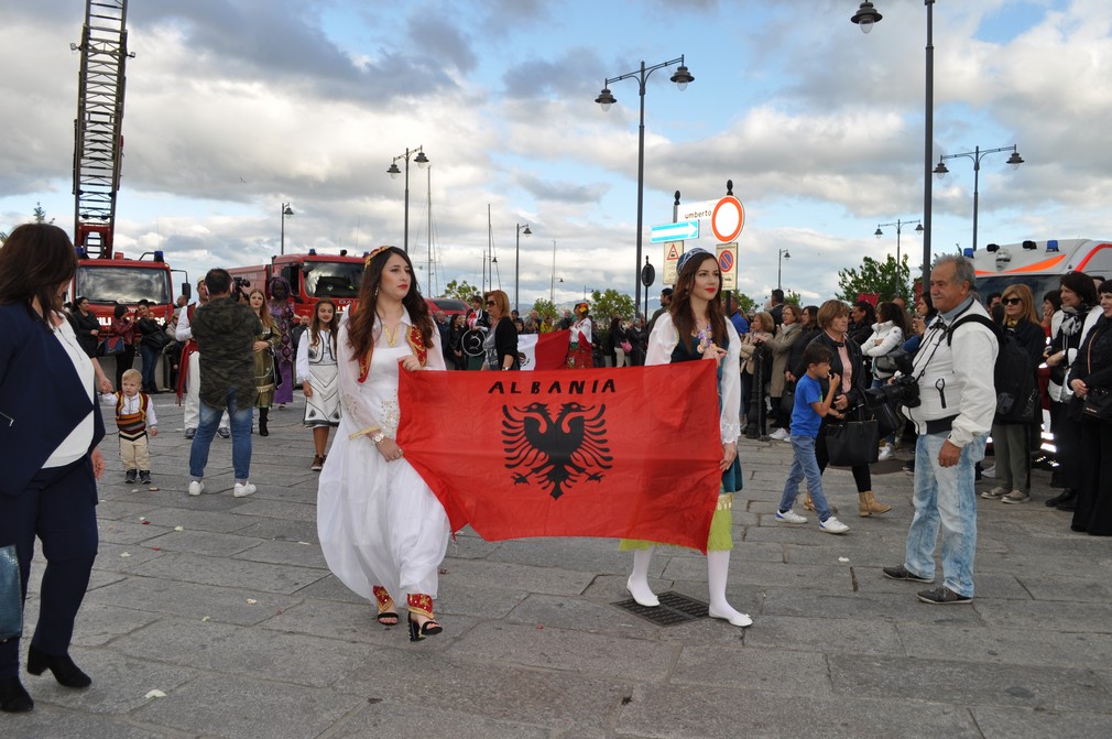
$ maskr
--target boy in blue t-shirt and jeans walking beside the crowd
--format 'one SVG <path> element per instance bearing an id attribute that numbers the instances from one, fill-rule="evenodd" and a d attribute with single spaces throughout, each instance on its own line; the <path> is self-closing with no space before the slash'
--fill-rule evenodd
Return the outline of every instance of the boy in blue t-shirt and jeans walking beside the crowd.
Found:
<path id="1" fill-rule="evenodd" d="M 850 530 L 833 515 L 823 495 L 823 476 L 815 459 L 815 440 L 823 418 L 832 415 L 841 418 L 842 414 L 834 410 L 834 395 L 842 384 L 842 378 L 831 374 L 831 351 L 816 343 L 811 343 L 803 351 L 803 363 L 807 373 L 800 377 L 795 385 L 795 405 L 792 408 L 792 469 L 784 482 L 784 494 L 776 509 L 776 520 L 785 523 L 806 523 L 807 519 L 793 512 L 795 497 L 800 494 L 800 481 L 807 479 L 807 491 L 815 502 L 818 513 L 818 530 L 828 534 L 844 534 Z M 821 381 L 830 376 L 830 391 L 823 400 Z"/>

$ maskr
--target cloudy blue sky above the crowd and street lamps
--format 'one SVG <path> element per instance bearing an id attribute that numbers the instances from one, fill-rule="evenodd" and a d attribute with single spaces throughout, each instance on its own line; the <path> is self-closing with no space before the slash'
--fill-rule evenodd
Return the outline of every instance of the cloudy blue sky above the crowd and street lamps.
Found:
<path id="1" fill-rule="evenodd" d="M 0 229 L 40 201 L 72 231 L 73 118 L 83 0 L 0 0 Z M 681 55 L 685 91 L 648 80 L 645 244 L 685 203 L 727 179 L 746 207 L 739 287 L 818 300 L 863 255 L 894 253 L 922 218 L 926 11 L 874 0 L 132 0 L 117 245 L 161 248 L 196 278 L 286 250 L 363 252 L 409 240 L 418 279 L 479 284 L 489 207 L 496 286 L 520 303 L 584 289 L 633 294 L 637 220 L 636 80 L 607 77 Z M 934 155 L 987 156 L 979 244 L 1112 237 L 1112 13 L 1106 0 L 939 0 Z M 399 162 L 403 165 L 404 162 Z M 973 166 L 934 185 L 935 252 L 972 242 Z M 426 267 L 431 188 L 433 274 Z M 917 270 L 922 242 L 901 246 Z M 705 229 L 704 233 L 706 233 Z M 688 245 L 693 245 L 688 242 Z M 704 236 L 697 245 L 713 246 Z M 651 288 L 655 296 L 659 288 Z M 436 292 L 435 289 L 428 292 Z"/>

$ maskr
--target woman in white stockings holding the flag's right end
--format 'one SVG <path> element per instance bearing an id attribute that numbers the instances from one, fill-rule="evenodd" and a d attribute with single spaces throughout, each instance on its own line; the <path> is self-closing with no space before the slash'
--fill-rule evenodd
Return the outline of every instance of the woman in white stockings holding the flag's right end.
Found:
<path id="1" fill-rule="evenodd" d="M 661 314 L 648 338 L 646 365 L 708 359 L 718 367 L 718 406 L 722 431 L 722 492 L 707 539 L 707 584 L 711 592 L 709 615 L 735 627 L 753 623 L 747 614 L 726 601 L 729 551 L 733 549 L 732 516 L 734 491 L 741 490 L 737 463 L 737 437 L 741 435 L 739 346 L 737 331 L 726 321 L 719 293 L 722 274 L 718 260 L 705 249 L 695 248 L 679 257 L 678 277 L 668 312 Z M 648 587 L 648 566 L 655 544 L 622 540 L 622 550 L 633 550 L 633 572 L 626 589 L 641 605 L 656 607 L 661 601 Z"/>

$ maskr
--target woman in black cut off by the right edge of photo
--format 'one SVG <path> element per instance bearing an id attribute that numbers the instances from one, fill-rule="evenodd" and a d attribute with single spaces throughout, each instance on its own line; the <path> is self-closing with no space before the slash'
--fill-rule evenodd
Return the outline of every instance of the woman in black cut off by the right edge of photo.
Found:
<path id="1" fill-rule="evenodd" d="M 1112 280 L 1104 280 L 1098 292 L 1103 313 L 1070 368 L 1069 385 L 1080 398 L 1074 403 L 1094 393 L 1112 393 Z M 1082 417 L 1078 462 L 1081 482 L 1070 528 L 1112 536 L 1112 421 Z"/>

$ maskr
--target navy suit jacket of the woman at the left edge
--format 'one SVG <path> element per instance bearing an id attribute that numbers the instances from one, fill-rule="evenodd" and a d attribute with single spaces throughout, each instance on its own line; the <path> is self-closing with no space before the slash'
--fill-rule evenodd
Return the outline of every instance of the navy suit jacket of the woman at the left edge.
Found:
<path id="1" fill-rule="evenodd" d="M 19 495 L 92 411 L 91 452 L 105 421 L 73 363 L 24 303 L 0 305 L 0 494 Z"/>

